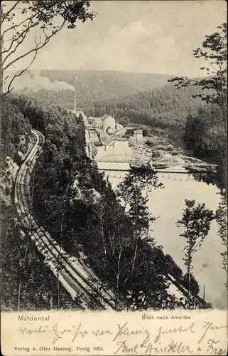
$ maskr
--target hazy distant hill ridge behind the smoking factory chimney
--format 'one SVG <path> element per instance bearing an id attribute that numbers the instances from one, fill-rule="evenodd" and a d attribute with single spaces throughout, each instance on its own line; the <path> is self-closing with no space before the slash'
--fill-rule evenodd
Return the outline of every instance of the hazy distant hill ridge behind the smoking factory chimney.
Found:
<path id="1" fill-rule="evenodd" d="M 40 76 L 43 77 L 43 84 L 41 84 Z M 29 88 L 38 91 L 43 85 L 43 88 L 48 90 L 47 79 L 44 79 L 48 78 L 51 82 L 50 89 L 55 91 L 54 85 L 58 89 L 57 82 L 65 82 L 69 85 L 69 89 L 70 85 L 76 88 L 77 103 L 84 106 L 101 98 L 109 100 L 122 95 L 139 93 L 142 90 L 161 88 L 171 77 L 172 75 L 126 73 L 112 70 L 33 70 L 18 78 L 15 88 L 19 89 L 16 91 L 29 92 Z M 37 88 L 35 81 L 38 82 Z M 68 91 L 67 85 L 65 89 Z M 67 96 L 69 100 L 70 95 L 73 98 L 72 93 L 63 93 L 63 96 Z"/>

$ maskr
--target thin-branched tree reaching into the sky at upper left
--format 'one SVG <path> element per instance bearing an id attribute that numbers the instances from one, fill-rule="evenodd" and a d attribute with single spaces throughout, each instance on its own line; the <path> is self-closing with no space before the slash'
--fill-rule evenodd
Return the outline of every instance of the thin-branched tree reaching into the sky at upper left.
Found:
<path id="1" fill-rule="evenodd" d="M 63 28 L 75 28 L 77 21 L 92 20 L 94 14 L 88 11 L 89 0 L 19 0 L 4 1 L 1 5 L 0 20 L 0 94 L 13 90 L 15 78 L 24 73 L 35 61 L 38 51 Z M 28 38 L 33 38 L 33 46 L 23 48 Z M 12 75 L 5 75 L 22 58 L 28 59 L 28 66 Z M 3 85 L 8 79 L 6 91 Z"/>

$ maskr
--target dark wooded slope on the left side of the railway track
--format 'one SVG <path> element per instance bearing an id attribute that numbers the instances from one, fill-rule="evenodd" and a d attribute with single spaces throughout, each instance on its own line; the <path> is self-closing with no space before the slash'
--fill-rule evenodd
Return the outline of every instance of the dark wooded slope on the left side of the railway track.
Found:
<path id="1" fill-rule="evenodd" d="M 24 110 L 21 110 L 23 106 Z M 32 117 L 40 117 L 40 107 L 28 98 L 1 98 L 1 309 L 40 310 L 57 306 L 56 281 L 43 264 L 43 257 L 30 236 L 21 229 L 14 206 L 14 182 L 27 150 L 33 145 Z M 47 112 L 45 112 L 47 114 Z M 53 115 L 53 112 L 51 112 Z M 60 288 L 62 308 L 78 308 L 64 288 Z"/>

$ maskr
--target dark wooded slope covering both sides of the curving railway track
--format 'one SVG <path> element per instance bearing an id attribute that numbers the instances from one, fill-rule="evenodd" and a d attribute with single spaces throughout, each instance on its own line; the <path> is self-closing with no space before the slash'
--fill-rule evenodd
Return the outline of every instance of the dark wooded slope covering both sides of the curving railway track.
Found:
<path id="1" fill-rule="evenodd" d="M 154 218 L 148 214 L 146 200 L 141 195 L 138 197 L 141 205 L 137 213 L 140 214 L 141 224 L 138 224 L 136 236 L 134 194 L 130 201 L 131 216 L 119 204 L 111 184 L 98 172 L 97 165 L 85 154 L 83 122 L 63 108 L 45 105 L 26 96 L 10 95 L 3 100 L 3 105 L 4 123 L 11 117 L 13 122 L 13 117 L 16 117 L 18 126 L 14 123 L 10 130 L 4 126 L 2 145 L 6 145 L 7 137 L 11 137 L 14 143 L 15 137 L 26 135 L 26 132 L 29 145 L 31 127 L 45 135 L 43 152 L 31 179 L 33 214 L 38 223 L 72 256 L 80 257 L 81 253 L 87 256 L 89 266 L 101 278 L 102 288 L 107 286 L 114 290 L 116 309 L 126 308 L 133 299 L 134 309 L 145 308 L 144 304 L 141 305 L 141 293 L 145 295 L 146 308 L 160 309 L 162 305 L 163 308 L 175 308 L 179 302 L 168 296 L 168 282 L 164 276 L 172 271 L 178 283 L 184 284 L 182 271 L 148 236 Z M 10 155 L 13 158 L 15 152 L 12 150 Z M 133 193 L 134 190 L 139 193 L 137 184 L 147 182 L 145 174 L 149 174 L 151 187 L 159 188 L 156 174 L 151 169 L 148 173 L 143 169 L 139 172 L 133 170 L 129 177 L 136 184 Z M 129 189 L 128 179 L 124 184 L 123 189 Z M 126 197 L 124 192 L 123 197 Z M 10 194 L 13 199 L 13 189 Z M 127 195 L 129 199 L 130 195 Z M 2 266 L 4 309 L 12 310 L 16 305 L 20 308 L 26 305 L 27 310 L 56 308 L 55 278 L 43 267 L 43 258 L 36 252 L 27 233 L 21 231 L 20 219 L 13 206 L 4 211 L 1 221 L 4 236 L 2 252 L 4 256 L 10 256 L 4 258 Z M 21 281 L 20 290 L 18 278 Z M 192 288 L 192 293 L 197 294 L 195 285 Z M 131 290 L 129 299 L 126 298 L 128 290 Z M 77 300 L 72 303 L 65 290 L 60 290 L 59 298 L 63 308 L 78 308 Z M 92 304 L 91 308 L 94 307 Z"/>

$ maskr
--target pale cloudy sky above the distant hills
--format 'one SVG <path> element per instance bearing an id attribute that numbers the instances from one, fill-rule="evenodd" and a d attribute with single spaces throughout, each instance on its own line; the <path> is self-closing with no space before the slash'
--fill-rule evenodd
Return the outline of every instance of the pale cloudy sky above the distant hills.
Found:
<path id="1" fill-rule="evenodd" d="M 121 70 L 202 75 L 192 51 L 226 21 L 226 1 L 91 1 L 93 21 L 65 28 L 33 69 Z M 29 46 L 29 38 L 25 46 Z M 21 60 L 16 69 L 23 68 Z"/>

